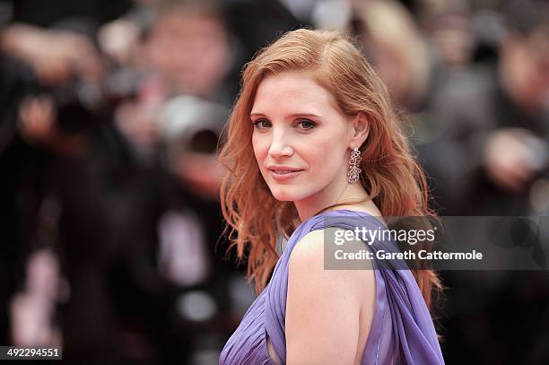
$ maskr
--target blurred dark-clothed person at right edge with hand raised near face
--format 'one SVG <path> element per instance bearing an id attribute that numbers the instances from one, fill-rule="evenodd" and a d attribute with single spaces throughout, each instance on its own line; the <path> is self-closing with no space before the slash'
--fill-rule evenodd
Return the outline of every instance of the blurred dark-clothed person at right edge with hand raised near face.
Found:
<path id="1" fill-rule="evenodd" d="M 431 110 L 440 137 L 425 146 L 423 158 L 436 182 L 433 194 L 441 213 L 545 220 L 549 7 L 524 0 L 507 2 L 504 9 L 508 29 L 497 65 L 477 65 L 440 92 Z M 535 233 L 542 252 L 546 226 Z M 453 288 L 445 306 L 449 358 L 549 361 L 542 344 L 549 308 L 545 271 L 448 272 L 443 277 Z"/>

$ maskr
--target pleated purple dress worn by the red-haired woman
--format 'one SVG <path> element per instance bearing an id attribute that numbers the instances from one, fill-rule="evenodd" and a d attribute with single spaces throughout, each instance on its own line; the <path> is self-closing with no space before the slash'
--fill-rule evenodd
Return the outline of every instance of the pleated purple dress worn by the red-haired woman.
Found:
<path id="1" fill-rule="evenodd" d="M 272 344 L 279 361 L 285 364 L 288 267 L 296 243 L 312 230 L 328 227 L 375 230 L 380 224 L 368 213 L 350 210 L 322 213 L 302 222 L 288 240 L 274 267 L 271 281 L 225 344 L 220 365 L 274 364 L 267 352 L 267 341 Z M 376 241 L 372 248 L 390 252 L 398 250 L 392 242 Z M 389 260 L 374 260 L 373 265 L 377 300 L 362 364 L 443 364 L 431 315 L 412 273 L 387 267 L 392 265 Z"/>

